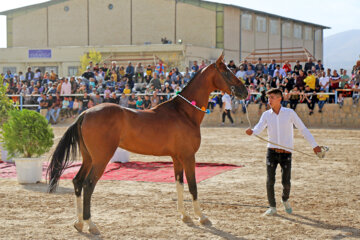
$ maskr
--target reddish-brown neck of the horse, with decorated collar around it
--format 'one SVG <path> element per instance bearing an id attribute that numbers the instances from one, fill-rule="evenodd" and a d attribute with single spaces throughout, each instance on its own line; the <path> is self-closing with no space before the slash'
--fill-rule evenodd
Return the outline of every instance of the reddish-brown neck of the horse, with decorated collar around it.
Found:
<path id="1" fill-rule="evenodd" d="M 190 102 L 195 101 L 196 106 L 199 108 L 205 107 L 207 108 L 209 95 L 212 91 L 215 90 L 213 83 L 212 83 L 212 76 L 207 71 L 203 71 L 199 73 L 192 81 L 191 85 L 186 87 L 184 91 L 181 92 L 181 95 L 185 97 Z M 196 124 L 200 125 L 201 121 L 204 118 L 204 113 L 196 109 L 194 106 L 191 106 L 187 103 L 184 99 L 180 99 L 180 106 L 182 111 L 185 112 L 186 115 L 191 118 L 191 121 L 195 122 Z"/>

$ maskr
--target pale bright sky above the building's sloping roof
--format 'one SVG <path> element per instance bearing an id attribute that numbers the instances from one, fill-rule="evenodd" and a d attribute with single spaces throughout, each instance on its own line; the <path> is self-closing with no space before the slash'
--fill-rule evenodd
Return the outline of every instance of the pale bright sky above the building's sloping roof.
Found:
<path id="1" fill-rule="evenodd" d="M 116 1 L 116 0 L 114 0 Z M 208 0 L 242 6 L 305 22 L 331 27 L 324 30 L 324 37 L 360 28 L 359 0 Z M 47 2 L 44 0 L 0 0 L 0 12 L 27 5 Z M 6 17 L 0 16 L 0 48 L 6 47 Z"/>

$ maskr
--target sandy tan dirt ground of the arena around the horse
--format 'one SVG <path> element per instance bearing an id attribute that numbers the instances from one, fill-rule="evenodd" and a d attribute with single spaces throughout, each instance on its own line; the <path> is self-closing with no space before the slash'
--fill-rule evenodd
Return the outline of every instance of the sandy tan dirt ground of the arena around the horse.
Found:
<path id="1" fill-rule="evenodd" d="M 65 129 L 55 127 L 56 137 Z M 0 239 L 360 239 L 359 130 L 311 130 L 331 151 L 325 159 L 293 154 L 292 215 L 280 203 L 278 168 L 274 217 L 262 215 L 267 209 L 266 143 L 244 130 L 201 130 L 197 162 L 244 165 L 198 184 L 201 207 L 212 226 L 196 221 L 187 187 L 185 207 L 192 224 L 183 223 L 176 211 L 174 183 L 100 181 L 92 198 L 92 219 L 102 234 L 93 236 L 86 228 L 78 233 L 70 180 L 61 180 L 58 192 L 47 194 L 45 182 L 19 185 L 15 179 L 0 179 Z M 295 144 L 312 153 L 297 130 Z M 131 160 L 170 158 L 131 154 Z"/>

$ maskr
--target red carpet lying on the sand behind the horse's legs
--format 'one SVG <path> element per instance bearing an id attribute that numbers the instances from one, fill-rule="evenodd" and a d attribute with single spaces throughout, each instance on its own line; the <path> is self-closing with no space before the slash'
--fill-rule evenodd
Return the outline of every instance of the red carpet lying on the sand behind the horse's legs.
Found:
<path id="1" fill-rule="evenodd" d="M 61 179 L 72 179 L 79 171 L 80 166 L 81 163 L 75 163 L 70 166 L 65 170 Z M 46 174 L 46 167 L 47 163 L 44 163 L 44 177 Z M 196 163 L 196 181 L 200 182 L 239 167 L 241 166 L 231 164 Z M 0 178 L 16 178 L 15 165 L 12 163 L 0 163 Z M 143 182 L 174 182 L 174 170 L 172 162 L 109 163 L 101 179 Z"/>

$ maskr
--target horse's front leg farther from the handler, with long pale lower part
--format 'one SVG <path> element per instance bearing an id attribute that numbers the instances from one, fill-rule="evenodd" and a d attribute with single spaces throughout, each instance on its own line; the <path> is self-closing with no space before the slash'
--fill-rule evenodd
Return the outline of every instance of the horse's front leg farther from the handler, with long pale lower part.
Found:
<path id="1" fill-rule="evenodd" d="M 183 220 L 183 222 L 191 222 L 191 218 L 186 214 L 184 208 L 184 167 L 182 163 L 174 157 L 173 163 L 176 181 L 176 191 L 178 194 L 177 209 L 181 214 L 181 220 Z"/>

